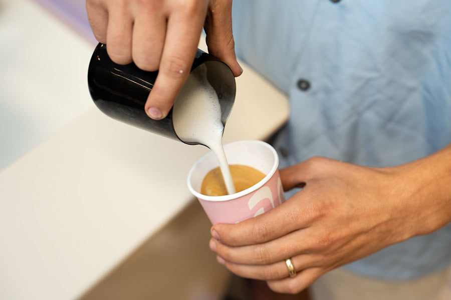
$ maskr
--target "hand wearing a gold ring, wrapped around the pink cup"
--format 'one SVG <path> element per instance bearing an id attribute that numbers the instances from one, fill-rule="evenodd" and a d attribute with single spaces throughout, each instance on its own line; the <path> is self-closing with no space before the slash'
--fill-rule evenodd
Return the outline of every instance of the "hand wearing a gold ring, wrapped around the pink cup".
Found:
<path id="1" fill-rule="evenodd" d="M 213 225 L 210 248 L 232 272 L 297 293 L 333 268 L 449 222 L 450 166 L 449 146 L 389 168 L 311 158 L 281 170 L 285 190 L 301 191 L 255 218 Z"/>

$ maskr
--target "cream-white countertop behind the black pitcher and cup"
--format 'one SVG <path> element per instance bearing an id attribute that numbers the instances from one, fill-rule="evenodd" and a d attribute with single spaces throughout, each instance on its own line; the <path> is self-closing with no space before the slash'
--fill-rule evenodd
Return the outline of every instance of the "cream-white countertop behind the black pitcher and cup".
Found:
<path id="1" fill-rule="evenodd" d="M 92 41 L 31 0 L 0 4 L 0 298 L 74 299 L 192 200 L 186 175 L 207 149 L 102 114 Z M 224 142 L 288 117 L 286 97 L 244 69 Z"/>

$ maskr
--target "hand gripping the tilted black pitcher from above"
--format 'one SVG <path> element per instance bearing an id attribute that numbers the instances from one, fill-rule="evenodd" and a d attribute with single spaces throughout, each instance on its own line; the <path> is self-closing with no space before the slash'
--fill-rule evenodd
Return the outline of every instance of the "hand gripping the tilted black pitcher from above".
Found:
<path id="1" fill-rule="evenodd" d="M 202 26 L 209 52 L 235 76 L 243 71 L 235 56 L 232 0 L 87 0 L 86 10 L 114 62 L 159 70 L 145 105 L 154 119 L 167 115 L 186 81 Z"/>

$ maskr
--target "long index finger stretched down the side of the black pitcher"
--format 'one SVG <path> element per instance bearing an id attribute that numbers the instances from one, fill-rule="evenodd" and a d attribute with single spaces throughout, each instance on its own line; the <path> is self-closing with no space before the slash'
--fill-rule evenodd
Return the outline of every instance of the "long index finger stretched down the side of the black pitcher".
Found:
<path id="1" fill-rule="evenodd" d="M 174 12 L 167 23 L 166 38 L 152 91 L 145 109 L 154 119 L 164 118 L 175 97 L 186 81 L 197 50 L 206 6 L 203 11 L 196 5 L 183 12 Z"/>

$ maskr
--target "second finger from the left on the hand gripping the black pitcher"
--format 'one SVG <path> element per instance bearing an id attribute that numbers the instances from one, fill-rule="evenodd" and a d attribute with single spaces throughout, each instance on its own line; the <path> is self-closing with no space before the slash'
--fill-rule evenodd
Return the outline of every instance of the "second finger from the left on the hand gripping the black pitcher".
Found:
<path id="1" fill-rule="evenodd" d="M 133 18 L 128 13 L 125 1 L 122 4 L 115 2 L 114 5 L 108 9 L 107 52 L 114 62 L 127 64 L 132 62 Z"/>

